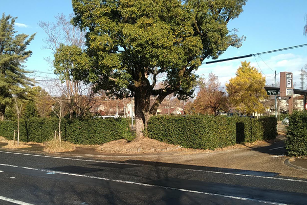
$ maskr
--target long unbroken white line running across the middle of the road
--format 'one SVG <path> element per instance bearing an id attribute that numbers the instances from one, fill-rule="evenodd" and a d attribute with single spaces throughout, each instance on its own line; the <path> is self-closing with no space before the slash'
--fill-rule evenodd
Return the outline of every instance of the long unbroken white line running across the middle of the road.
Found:
<path id="1" fill-rule="evenodd" d="M 237 196 L 230 196 L 230 195 L 224 195 L 224 194 L 215 194 L 215 193 L 209 193 L 209 192 L 200 192 L 200 191 L 193 191 L 193 190 L 187 190 L 187 189 L 179 189 L 179 188 L 172 188 L 172 187 L 164 187 L 159 185 L 149 185 L 147 183 L 139 183 L 134 181 L 124 181 L 124 180 L 117 180 L 117 179 L 109 179 L 109 178 L 103 178 L 103 177 L 95 177 L 95 176 L 87 176 L 87 175 L 81 175 L 81 174 L 72 174 L 67 172 L 58 172 L 58 171 L 51 171 L 51 170 L 45 170 L 45 169 L 36 169 L 36 168 L 30 168 L 30 167 L 19 167 L 16 165 L 6 165 L 0 163 L 1 166 L 7 166 L 7 167 L 15 167 L 15 168 L 23 168 L 28 170 L 35 170 L 35 171 L 43 171 L 48 173 L 55 173 L 55 174 L 64 174 L 64 175 L 70 175 L 70 176 L 78 176 L 78 177 L 85 177 L 85 178 L 92 178 L 92 179 L 101 179 L 106 181 L 114 181 L 114 182 L 120 182 L 120 183 L 128 183 L 130 185 L 139 185 L 144 187 L 157 187 L 157 188 L 163 188 L 163 189 L 169 189 L 169 190 L 177 190 L 182 192 L 189 192 L 189 193 L 196 193 L 196 194 L 205 194 L 205 195 L 211 195 L 211 196 L 221 196 L 225 198 L 232 198 L 232 199 L 238 199 L 238 200 L 245 200 L 245 201 L 255 201 L 255 202 L 262 202 L 262 203 L 268 203 L 273 205 L 287 205 L 286 203 L 278 203 L 273 201 L 265 201 L 265 200 L 257 200 L 252 198 L 245 198 L 245 197 L 237 197 Z M 306 181 L 307 182 L 307 181 Z M 1 198 L 0 198 L 1 199 Z M 21 205 L 28 205 L 28 203 L 18 203 Z M 32 204 L 30 204 L 32 205 Z"/>

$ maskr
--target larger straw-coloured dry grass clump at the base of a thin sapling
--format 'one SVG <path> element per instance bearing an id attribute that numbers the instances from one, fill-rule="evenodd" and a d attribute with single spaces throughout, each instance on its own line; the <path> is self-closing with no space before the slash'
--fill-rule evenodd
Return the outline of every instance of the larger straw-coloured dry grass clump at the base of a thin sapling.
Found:
<path id="1" fill-rule="evenodd" d="M 44 152 L 70 152 L 76 149 L 75 145 L 67 141 L 51 140 L 46 142 Z"/>

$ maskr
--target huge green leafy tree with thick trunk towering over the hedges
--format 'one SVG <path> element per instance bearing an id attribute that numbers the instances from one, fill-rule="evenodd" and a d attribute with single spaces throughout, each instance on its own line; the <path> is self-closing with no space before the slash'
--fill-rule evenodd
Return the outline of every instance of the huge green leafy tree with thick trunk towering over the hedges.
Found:
<path id="1" fill-rule="evenodd" d="M 204 59 L 216 59 L 243 38 L 227 24 L 246 0 L 73 0 L 74 24 L 86 31 L 92 67 L 82 79 L 116 97 L 135 97 L 137 136 L 169 94 L 193 93 Z M 155 89 L 165 73 L 164 88 Z M 152 75 L 150 80 L 149 75 Z M 155 101 L 150 106 L 150 96 Z"/>

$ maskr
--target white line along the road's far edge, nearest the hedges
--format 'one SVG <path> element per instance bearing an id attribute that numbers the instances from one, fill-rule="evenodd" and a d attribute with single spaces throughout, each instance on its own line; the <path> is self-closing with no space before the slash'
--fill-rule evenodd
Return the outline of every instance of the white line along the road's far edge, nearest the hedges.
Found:
<path id="1" fill-rule="evenodd" d="M 75 161 L 91 161 L 91 162 L 104 162 L 104 163 L 115 163 L 119 165 L 137 165 L 137 166 L 146 166 L 140 165 L 136 163 L 123 163 L 123 162 L 113 162 L 113 161 L 98 161 L 98 160 L 87 160 L 87 159 L 73 159 L 73 158 L 65 158 L 65 157 L 52 157 L 52 156 L 45 156 L 45 155 L 36 155 L 36 154 L 25 154 L 25 153 L 17 153 L 17 152 L 4 152 L 0 151 L 0 153 L 9 153 L 9 154 L 19 154 L 19 155 L 28 155 L 28 156 L 37 156 L 37 157 L 47 157 L 47 158 L 56 158 L 56 159 L 68 159 L 68 160 L 75 160 Z M 1 165 L 1 164 L 0 164 Z M 13 165 L 12 165 L 13 166 Z M 258 178 L 268 178 L 268 179 L 277 179 L 277 180 L 286 180 L 286 181 L 298 181 L 298 182 L 305 182 L 304 180 L 298 179 L 285 179 L 285 178 L 276 178 L 276 177 L 268 177 L 268 176 L 255 176 L 255 175 L 248 175 L 248 174 L 235 174 L 235 173 L 227 173 L 227 172 L 215 172 L 215 171 L 206 171 L 206 170 L 194 170 L 194 169 L 185 169 L 189 171 L 195 172 L 208 172 L 208 173 L 215 173 L 215 174 L 226 174 L 226 175 L 234 175 L 234 176 L 246 176 L 246 177 L 258 177 Z"/>

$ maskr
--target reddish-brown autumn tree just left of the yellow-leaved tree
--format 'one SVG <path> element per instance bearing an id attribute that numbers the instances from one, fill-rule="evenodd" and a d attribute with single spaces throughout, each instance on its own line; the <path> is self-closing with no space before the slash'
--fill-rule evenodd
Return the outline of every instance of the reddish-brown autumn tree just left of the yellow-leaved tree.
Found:
<path id="1" fill-rule="evenodd" d="M 213 73 L 209 74 L 208 79 L 201 78 L 200 91 L 194 100 L 194 106 L 196 111 L 202 114 L 217 115 L 220 110 L 228 110 L 226 92 Z"/>

